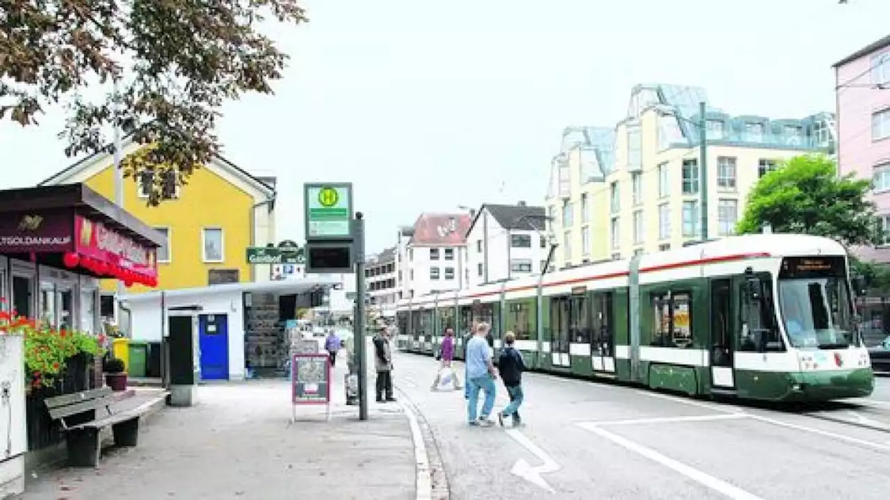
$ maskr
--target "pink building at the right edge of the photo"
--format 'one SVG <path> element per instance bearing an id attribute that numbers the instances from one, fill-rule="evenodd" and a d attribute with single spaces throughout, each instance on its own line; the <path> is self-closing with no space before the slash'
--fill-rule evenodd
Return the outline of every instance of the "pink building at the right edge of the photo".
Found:
<path id="1" fill-rule="evenodd" d="M 837 95 L 837 163 L 840 173 L 872 178 L 886 245 L 862 257 L 890 262 L 890 36 L 834 65 Z"/>

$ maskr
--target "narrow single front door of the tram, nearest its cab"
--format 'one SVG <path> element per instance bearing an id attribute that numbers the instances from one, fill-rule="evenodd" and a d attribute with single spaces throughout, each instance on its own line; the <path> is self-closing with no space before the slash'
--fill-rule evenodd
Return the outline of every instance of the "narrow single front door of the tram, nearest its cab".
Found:
<path id="1" fill-rule="evenodd" d="M 730 279 L 711 280 L 711 385 L 723 389 L 735 387 L 731 285 Z"/>

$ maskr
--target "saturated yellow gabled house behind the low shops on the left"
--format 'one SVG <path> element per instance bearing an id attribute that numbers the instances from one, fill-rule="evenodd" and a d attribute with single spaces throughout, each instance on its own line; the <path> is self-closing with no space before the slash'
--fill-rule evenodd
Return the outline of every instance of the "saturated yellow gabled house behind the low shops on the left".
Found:
<path id="1" fill-rule="evenodd" d="M 129 137 L 124 155 L 139 149 Z M 105 198 L 115 199 L 111 155 L 96 154 L 71 165 L 40 185 L 84 182 Z M 207 286 L 220 282 L 270 279 L 269 265 L 247 264 L 247 246 L 275 241 L 275 178 L 258 178 L 222 157 L 196 169 L 174 198 L 149 206 L 134 178 L 124 179 L 125 209 L 167 237 L 158 248 L 158 289 Z M 102 289 L 114 291 L 105 280 Z M 128 294 L 147 291 L 134 285 Z"/>

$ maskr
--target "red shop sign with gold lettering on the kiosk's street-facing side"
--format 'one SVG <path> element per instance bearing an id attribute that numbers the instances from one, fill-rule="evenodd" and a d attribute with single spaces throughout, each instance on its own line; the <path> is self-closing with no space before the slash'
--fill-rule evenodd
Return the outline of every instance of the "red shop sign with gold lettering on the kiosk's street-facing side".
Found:
<path id="1" fill-rule="evenodd" d="M 101 222 L 82 215 L 74 220 L 75 252 L 101 262 L 121 266 L 137 273 L 157 278 L 158 265 L 155 249 L 136 243 Z"/>

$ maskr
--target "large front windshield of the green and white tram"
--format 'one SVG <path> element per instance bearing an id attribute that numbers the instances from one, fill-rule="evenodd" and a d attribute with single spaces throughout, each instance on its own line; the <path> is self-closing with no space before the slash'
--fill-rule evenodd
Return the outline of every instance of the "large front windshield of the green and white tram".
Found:
<path id="1" fill-rule="evenodd" d="M 843 257 L 786 258 L 779 308 L 789 343 L 798 349 L 859 346 Z"/>

